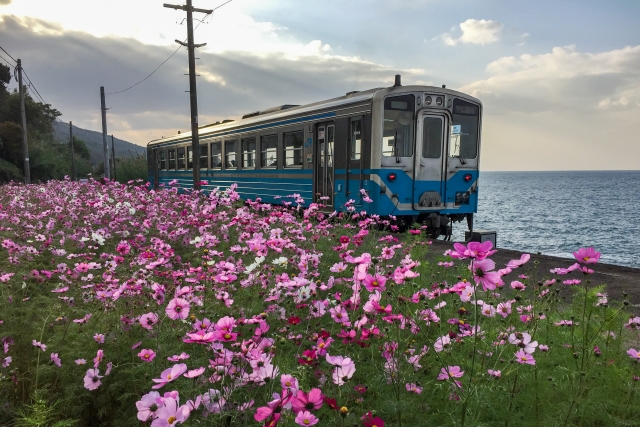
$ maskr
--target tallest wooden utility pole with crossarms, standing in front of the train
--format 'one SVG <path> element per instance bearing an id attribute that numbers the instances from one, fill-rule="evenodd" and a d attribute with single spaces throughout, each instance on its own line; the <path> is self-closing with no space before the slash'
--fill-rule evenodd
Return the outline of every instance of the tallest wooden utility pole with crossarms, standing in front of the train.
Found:
<path id="1" fill-rule="evenodd" d="M 193 12 L 201 12 L 209 15 L 213 9 L 197 9 L 193 7 L 191 0 L 186 0 L 185 6 L 164 4 L 164 7 L 179 9 L 187 12 L 187 44 L 176 40 L 178 44 L 186 46 L 189 51 L 189 97 L 191 100 L 191 151 L 193 153 L 193 188 L 200 189 L 200 142 L 198 135 L 198 93 L 196 92 L 196 59 L 194 50 L 205 46 L 206 43 L 194 44 L 193 42 Z M 188 162 L 188 159 L 187 159 Z"/>

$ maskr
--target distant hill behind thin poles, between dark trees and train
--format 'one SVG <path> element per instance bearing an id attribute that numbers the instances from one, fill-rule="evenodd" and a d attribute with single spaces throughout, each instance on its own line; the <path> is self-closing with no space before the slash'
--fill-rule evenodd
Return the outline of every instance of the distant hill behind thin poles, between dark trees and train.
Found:
<path id="1" fill-rule="evenodd" d="M 82 129 L 77 126 L 73 127 L 73 135 L 87 144 L 87 148 L 91 153 L 91 164 L 97 165 L 103 161 L 102 132 Z M 53 139 L 58 142 L 69 142 L 69 125 L 60 121 L 53 121 Z M 140 145 L 132 144 L 122 139 L 114 138 L 114 146 L 117 157 L 137 157 L 144 156 L 147 149 Z M 109 155 L 111 155 L 111 135 L 107 135 L 109 143 Z"/>

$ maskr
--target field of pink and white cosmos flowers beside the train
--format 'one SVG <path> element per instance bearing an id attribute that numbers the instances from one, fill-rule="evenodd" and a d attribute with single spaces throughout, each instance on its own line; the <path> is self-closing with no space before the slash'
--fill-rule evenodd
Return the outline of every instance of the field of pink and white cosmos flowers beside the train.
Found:
<path id="1" fill-rule="evenodd" d="M 0 187 L 0 425 L 640 425 L 640 317 L 593 248 L 427 262 L 419 227 L 297 202 Z"/>

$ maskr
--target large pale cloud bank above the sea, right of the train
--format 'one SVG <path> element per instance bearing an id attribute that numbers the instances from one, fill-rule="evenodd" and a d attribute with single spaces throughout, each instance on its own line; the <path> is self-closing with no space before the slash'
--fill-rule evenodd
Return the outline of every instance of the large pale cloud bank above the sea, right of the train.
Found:
<path id="1" fill-rule="evenodd" d="M 508 56 L 461 91 L 484 105 L 483 168 L 637 169 L 640 46 Z"/>

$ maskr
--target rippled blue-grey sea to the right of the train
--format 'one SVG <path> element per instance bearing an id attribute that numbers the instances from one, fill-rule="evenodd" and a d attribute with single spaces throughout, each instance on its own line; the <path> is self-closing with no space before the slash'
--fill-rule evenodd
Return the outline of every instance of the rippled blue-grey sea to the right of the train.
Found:
<path id="1" fill-rule="evenodd" d="M 640 268 L 640 171 L 481 172 L 474 229 L 496 231 L 498 248 L 573 258 L 592 246 Z"/>

